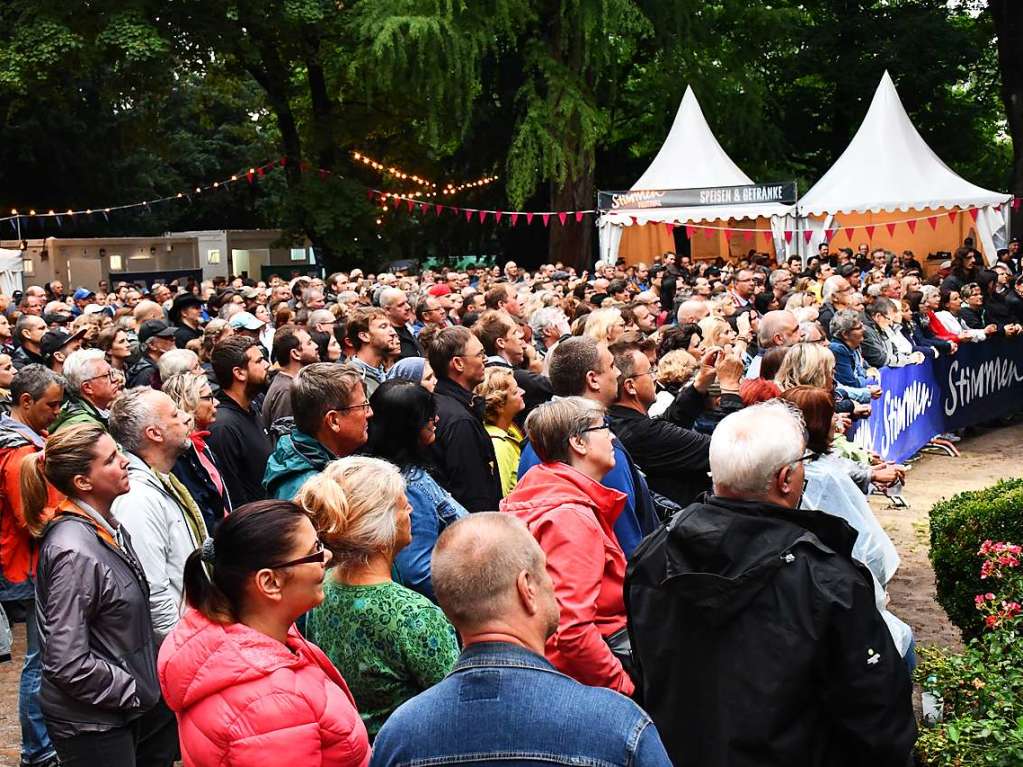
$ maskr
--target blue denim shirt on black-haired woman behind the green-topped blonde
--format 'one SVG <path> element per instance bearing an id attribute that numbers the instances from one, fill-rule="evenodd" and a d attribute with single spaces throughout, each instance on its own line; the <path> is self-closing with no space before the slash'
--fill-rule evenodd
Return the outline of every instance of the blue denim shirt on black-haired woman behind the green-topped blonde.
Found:
<path id="1" fill-rule="evenodd" d="M 469 511 L 418 466 L 406 468 L 402 477 L 405 478 L 405 496 L 412 506 L 412 541 L 394 559 L 395 580 L 437 601 L 430 581 L 430 557 L 437 536 L 455 520 L 466 516 Z"/>

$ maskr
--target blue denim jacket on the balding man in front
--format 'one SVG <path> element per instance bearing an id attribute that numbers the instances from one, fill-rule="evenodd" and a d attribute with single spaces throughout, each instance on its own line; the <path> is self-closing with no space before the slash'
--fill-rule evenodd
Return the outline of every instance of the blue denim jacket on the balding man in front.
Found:
<path id="1" fill-rule="evenodd" d="M 486 764 L 670 767 L 650 717 L 505 642 L 462 650 L 439 684 L 403 704 L 373 741 L 370 767 Z"/>

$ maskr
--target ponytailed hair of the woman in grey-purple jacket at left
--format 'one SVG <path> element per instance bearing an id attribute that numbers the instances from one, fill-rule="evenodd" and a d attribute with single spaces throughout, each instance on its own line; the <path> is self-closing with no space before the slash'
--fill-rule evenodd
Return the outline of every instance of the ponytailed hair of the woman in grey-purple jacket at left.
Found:
<path id="1" fill-rule="evenodd" d="M 74 495 L 75 478 L 88 475 L 96 457 L 96 443 L 106 434 L 98 423 L 61 428 L 46 440 L 46 448 L 21 461 L 21 509 L 29 532 L 41 537 L 49 517 L 47 481 L 64 495 Z"/>

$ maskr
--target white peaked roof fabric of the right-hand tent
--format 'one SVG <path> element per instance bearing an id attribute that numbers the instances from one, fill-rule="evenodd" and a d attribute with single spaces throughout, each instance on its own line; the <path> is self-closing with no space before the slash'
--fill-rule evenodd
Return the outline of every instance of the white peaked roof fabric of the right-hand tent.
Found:
<path id="1" fill-rule="evenodd" d="M 798 215 L 925 211 L 1003 205 L 1009 194 L 983 189 L 959 176 L 917 132 L 885 72 L 849 146 L 800 198 Z M 978 225 L 981 245 L 994 257 L 997 215 Z M 1003 218 L 1004 217 L 997 217 Z M 979 220 L 978 220 L 979 224 Z"/>

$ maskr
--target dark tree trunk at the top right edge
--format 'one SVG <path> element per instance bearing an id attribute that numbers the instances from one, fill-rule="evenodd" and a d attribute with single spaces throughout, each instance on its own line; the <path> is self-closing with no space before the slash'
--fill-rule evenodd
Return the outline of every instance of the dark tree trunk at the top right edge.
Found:
<path id="1" fill-rule="evenodd" d="M 988 0 L 998 38 L 998 70 L 1002 73 L 1002 101 L 1006 106 L 1009 135 L 1013 140 L 1013 176 L 1010 191 L 1023 197 L 1023 2 Z M 1023 207 L 1013 211 L 1012 231 L 1023 233 Z"/>

